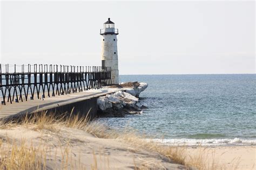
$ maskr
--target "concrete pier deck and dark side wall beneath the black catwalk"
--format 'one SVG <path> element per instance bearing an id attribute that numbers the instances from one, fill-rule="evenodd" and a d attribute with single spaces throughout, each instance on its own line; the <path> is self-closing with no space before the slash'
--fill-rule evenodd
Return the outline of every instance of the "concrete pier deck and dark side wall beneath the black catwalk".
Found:
<path id="1" fill-rule="evenodd" d="M 91 118 L 97 116 L 97 98 L 106 94 L 111 94 L 120 89 L 107 88 L 98 90 L 87 90 L 79 93 L 46 97 L 44 99 L 28 100 L 19 103 L 7 103 L 0 105 L 0 119 L 19 117 L 25 114 L 32 114 L 48 110 L 48 112 L 73 114 L 87 114 Z"/>

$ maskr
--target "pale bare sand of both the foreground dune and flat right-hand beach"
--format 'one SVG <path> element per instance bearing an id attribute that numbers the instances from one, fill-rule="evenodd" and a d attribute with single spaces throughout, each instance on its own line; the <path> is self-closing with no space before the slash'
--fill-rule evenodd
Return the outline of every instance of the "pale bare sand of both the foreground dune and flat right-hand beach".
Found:
<path id="1" fill-rule="evenodd" d="M 22 154 L 25 159 L 24 155 L 31 157 L 32 152 L 35 159 L 44 158 L 39 163 L 46 169 L 187 168 L 158 152 L 140 147 L 139 143 L 134 145 L 122 138 L 99 138 L 86 131 L 58 125 L 5 127 L 0 130 L 1 155 L 11 157 L 12 151 L 16 155 Z M 188 164 L 204 164 L 204 168 L 199 169 L 255 169 L 256 146 L 190 146 L 178 149 Z M 26 152 L 21 153 L 22 150 Z M 12 157 L 21 161 L 19 157 Z"/>

